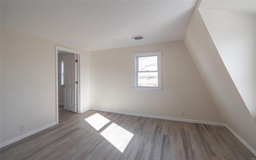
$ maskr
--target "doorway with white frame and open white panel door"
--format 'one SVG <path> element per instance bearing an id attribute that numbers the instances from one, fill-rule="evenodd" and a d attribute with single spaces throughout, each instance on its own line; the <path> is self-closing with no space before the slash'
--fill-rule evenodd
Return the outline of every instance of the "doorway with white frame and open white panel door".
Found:
<path id="1" fill-rule="evenodd" d="M 76 113 L 80 113 L 80 59 L 81 52 L 75 51 L 72 49 L 56 46 L 56 123 L 58 124 L 58 110 L 59 105 L 65 105 L 66 110 L 73 111 Z M 76 70 L 70 70 L 70 62 L 67 60 L 71 60 L 69 57 L 75 57 L 74 65 Z M 66 59 L 66 62 L 65 62 Z M 71 62 L 72 63 L 72 62 Z M 66 68 L 64 67 L 66 65 Z M 67 68 L 69 67 L 69 69 Z M 72 67 L 71 67 L 72 68 Z M 69 70 L 69 71 L 65 71 Z M 73 72 L 74 79 L 70 83 L 70 81 L 65 81 L 64 73 L 65 72 Z M 68 74 L 66 74 L 68 75 Z M 75 81 L 74 81 L 75 80 Z M 68 83 L 67 83 L 68 82 Z M 73 83 L 73 84 L 72 84 Z M 70 88 L 70 85 L 73 85 L 73 88 Z M 68 86 L 68 87 L 66 87 Z M 72 93 L 72 94 L 70 94 Z M 67 98 L 69 96 L 69 98 Z M 71 97 L 71 98 L 70 98 Z M 65 100 L 65 98 L 67 98 Z"/>

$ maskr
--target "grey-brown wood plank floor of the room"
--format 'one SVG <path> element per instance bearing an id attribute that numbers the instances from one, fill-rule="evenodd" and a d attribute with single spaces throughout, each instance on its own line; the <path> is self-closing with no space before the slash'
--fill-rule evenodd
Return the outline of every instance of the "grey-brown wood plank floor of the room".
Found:
<path id="1" fill-rule="evenodd" d="M 98 131 L 84 120 L 88 117 L 92 118 L 93 115 L 97 115 L 98 119 L 94 119 L 95 123 L 92 125 L 101 124 L 96 121 L 106 122 L 106 125 L 98 128 Z M 111 130 L 113 127 L 116 128 L 115 131 Z M 129 142 L 125 139 L 130 135 L 133 137 Z M 120 146 L 122 142 L 128 144 L 126 148 L 121 146 L 125 148 L 123 152 L 114 146 L 114 144 Z M 251 160 L 255 158 L 225 127 L 92 110 L 77 114 L 62 107 L 59 108 L 58 125 L 1 148 L 0 156 L 1 160 Z"/>

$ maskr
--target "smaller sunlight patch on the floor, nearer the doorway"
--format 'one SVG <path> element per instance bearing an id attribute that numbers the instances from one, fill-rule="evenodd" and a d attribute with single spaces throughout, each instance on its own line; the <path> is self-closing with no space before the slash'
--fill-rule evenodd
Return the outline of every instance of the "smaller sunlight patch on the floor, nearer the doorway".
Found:
<path id="1" fill-rule="evenodd" d="M 106 124 L 110 122 L 110 120 L 106 119 L 99 113 L 95 113 L 94 115 L 91 115 L 90 117 L 87 117 L 84 119 L 87 123 L 89 123 L 94 129 L 99 131 L 102 127 L 104 127 Z"/>

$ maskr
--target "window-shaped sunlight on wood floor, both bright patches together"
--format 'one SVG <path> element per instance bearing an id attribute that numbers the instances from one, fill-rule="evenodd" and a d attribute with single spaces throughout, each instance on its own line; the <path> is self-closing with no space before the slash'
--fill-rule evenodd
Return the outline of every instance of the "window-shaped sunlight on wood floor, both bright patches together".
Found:
<path id="1" fill-rule="evenodd" d="M 110 122 L 109 119 L 103 117 L 99 113 L 95 113 L 94 115 L 91 115 L 84 120 L 92 127 L 94 127 L 94 129 L 96 129 L 97 131 L 102 129 L 102 127 Z M 110 125 L 108 125 L 102 132 L 100 132 L 100 135 L 102 135 L 106 140 L 108 140 L 108 142 L 110 142 L 122 153 L 134 136 L 132 133 L 130 133 L 126 129 L 123 129 L 116 123 L 111 123 Z"/>

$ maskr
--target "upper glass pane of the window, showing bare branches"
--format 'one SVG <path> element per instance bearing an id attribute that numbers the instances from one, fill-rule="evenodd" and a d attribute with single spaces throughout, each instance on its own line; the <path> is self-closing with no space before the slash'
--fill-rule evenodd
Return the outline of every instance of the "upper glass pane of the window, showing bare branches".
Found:
<path id="1" fill-rule="evenodd" d="M 157 71 L 157 56 L 138 57 L 138 71 Z"/>

